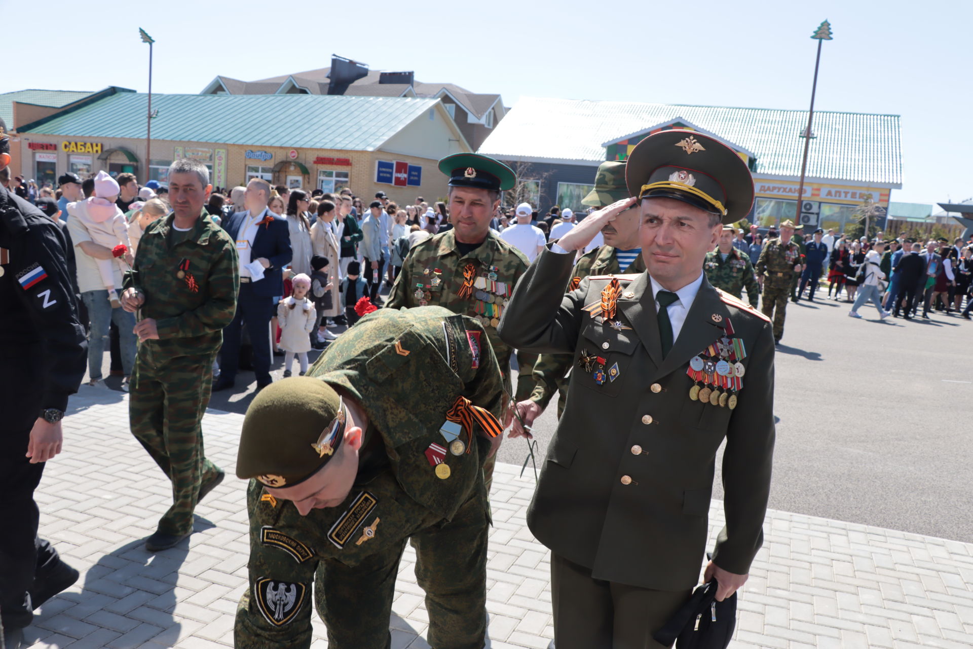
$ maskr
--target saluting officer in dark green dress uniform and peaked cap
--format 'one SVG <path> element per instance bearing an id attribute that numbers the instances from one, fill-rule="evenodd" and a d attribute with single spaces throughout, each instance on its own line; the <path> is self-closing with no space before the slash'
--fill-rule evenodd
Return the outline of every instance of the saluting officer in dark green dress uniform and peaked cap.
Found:
<path id="1" fill-rule="evenodd" d="M 774 337 L 703 274 L 721 222 L 750 209 L 750 172 L 717 140 L 665 130 L 632 150 L 626 176 L 634 198 L 542 252 L 500 323 L 508 344 L 572 353 L 578 373 L 527 513 L 552 551 L 558 649 L 660 646 L 652 633 L 699 579 L 724 438 L 727 525 L 704 572 L 717 599 L 743 585 L 763 540 Z M 633 203 L 647 271 L 551 291 L 568 281 L 572 253 Z"/>

